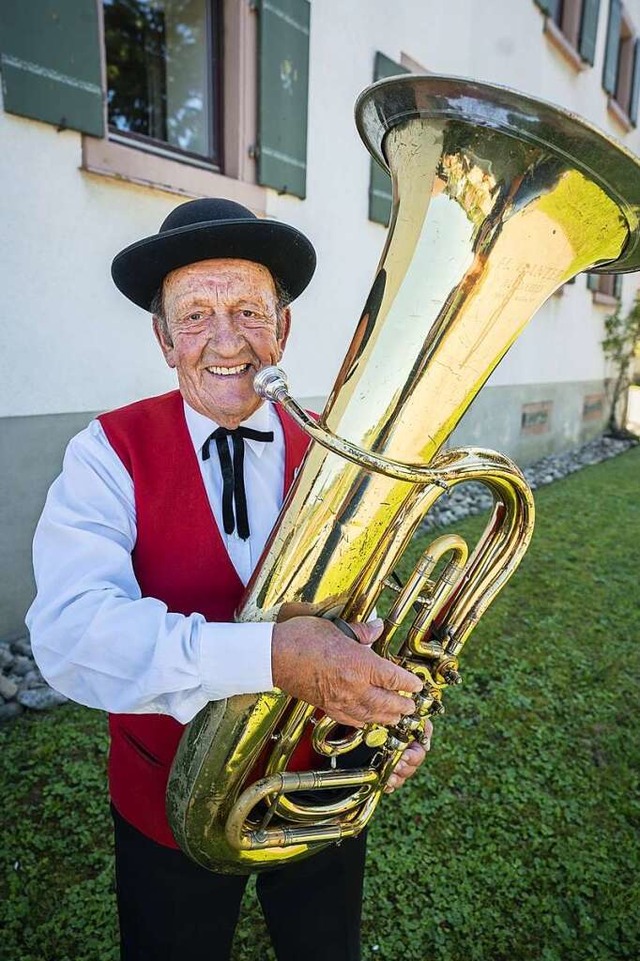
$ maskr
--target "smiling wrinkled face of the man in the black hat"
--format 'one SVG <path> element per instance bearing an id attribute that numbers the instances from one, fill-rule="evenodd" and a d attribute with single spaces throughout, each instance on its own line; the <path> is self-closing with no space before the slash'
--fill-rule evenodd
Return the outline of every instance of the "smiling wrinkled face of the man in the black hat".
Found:
<path id="1" fill-rule="evenodd" d="M 186 402 L 233 429 L 260 406 L 253 378 L 277 364 L 289 334 L 289 311 L 276 315 L 266 267 L 248 260 L 202 260 L 168 274 L 164 309 L 169 337 L 154 318 L 165 359 Z"/>

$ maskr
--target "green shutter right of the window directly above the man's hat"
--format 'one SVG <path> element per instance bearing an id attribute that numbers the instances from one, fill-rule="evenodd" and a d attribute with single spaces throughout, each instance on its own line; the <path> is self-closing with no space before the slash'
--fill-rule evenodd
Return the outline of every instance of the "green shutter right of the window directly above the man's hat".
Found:
<path id="1" fill-rule="evenodd" d="M 261 0 L 258 182 L 304 198 L 309 88 L 308 0 Z"/>

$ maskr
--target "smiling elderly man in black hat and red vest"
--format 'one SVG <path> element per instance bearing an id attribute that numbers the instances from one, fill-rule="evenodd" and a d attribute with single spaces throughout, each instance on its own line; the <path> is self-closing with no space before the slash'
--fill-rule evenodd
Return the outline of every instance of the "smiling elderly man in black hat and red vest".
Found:
<path id="1" fill-rule="evenodd" d="M 44 676 L 110 713 L 122 958 L 229 957 L 243 877 L 178 850 L 167 777 L 183 725 L 210 700 L 279 687 L 339 722 L 397 723 L 420 688 L 374 654 L 381 623 L 295 617 L 235 624 L 307 438 L 262 404 L 288 303 L 315 268 L 309 241 L 238 204 L 181 205 L 114 260 L 118 288 L 153 313 L 178 391 L 100 416 L 69 444 L 38 526 L 27 623 Z M 390 788 L 422 762 L 405 752 Z M 258 878 L 279 961 L 356 959 L 364 838 Z M 317 898 L 323 904 L 317 912 Z"/>

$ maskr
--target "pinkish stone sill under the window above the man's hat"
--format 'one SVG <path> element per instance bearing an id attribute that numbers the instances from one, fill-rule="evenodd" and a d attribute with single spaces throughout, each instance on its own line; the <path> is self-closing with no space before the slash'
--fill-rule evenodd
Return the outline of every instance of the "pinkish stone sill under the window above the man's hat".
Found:
<path id="1" fill-rule="evenodd" d="M 267 191 L 187 161 L 170 159 L 97 137 L 82 137 L 82 169 L 186 197 L 224 197 L 264 215 Z"/>

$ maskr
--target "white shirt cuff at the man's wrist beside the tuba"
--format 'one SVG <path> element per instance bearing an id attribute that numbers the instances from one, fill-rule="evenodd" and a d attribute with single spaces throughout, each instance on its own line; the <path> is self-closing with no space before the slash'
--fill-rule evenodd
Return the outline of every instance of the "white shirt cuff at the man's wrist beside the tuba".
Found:
<path id="1" fill-rule="evenodd" d="M 200 676 L 210 700 L 273 689 L 272 633 L 271 623 L 202 625 Z"/>

